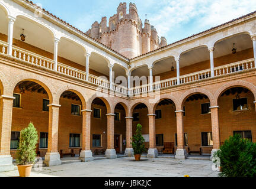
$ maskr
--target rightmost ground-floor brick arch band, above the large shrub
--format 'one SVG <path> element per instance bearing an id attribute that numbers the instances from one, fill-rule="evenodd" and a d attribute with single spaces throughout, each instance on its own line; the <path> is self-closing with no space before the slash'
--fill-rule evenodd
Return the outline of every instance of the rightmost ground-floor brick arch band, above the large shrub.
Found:
<path id="1" fill-rule="evenodd" d="M 222 94 L 225 90 L 230 89 L 232 87 L 245 87 L 248 90 L 254 94 L 254 99 L 256 98 L 256 86 L 252 83 L 246 82 L 244 80 L 237 80 L 237 81 L 232 81 L 223 84 L 214 94 L 214 101 L 213 101 L 213 106 L 217 106 L 217 101 L 220 97 L 220 94 Z M 256 99 L 255 99 L 256 100 Z"/>

